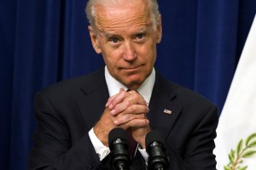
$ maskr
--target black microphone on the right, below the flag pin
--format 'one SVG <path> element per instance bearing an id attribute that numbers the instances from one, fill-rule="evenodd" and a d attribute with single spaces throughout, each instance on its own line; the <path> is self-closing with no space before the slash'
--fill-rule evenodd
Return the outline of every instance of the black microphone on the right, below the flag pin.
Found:
<path id="1" fill-rule="evenodd" d="M 168 169 L 169 158 L 165 153 L 165 139 L 160 132 L 153 130 L 146 135 L 146 150 L 149 170 Z"/>

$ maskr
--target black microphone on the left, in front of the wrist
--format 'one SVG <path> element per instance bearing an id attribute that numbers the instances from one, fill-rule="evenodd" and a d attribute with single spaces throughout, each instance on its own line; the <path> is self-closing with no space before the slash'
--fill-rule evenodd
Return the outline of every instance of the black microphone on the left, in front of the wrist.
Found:
<path id="1" fill-rule="evenodd" d="M 125 130 L 116 127 L 108 134 L 110 167 L 113 170 L 129 170 L 131 158 L 128 153 L 128 137 Z"/>

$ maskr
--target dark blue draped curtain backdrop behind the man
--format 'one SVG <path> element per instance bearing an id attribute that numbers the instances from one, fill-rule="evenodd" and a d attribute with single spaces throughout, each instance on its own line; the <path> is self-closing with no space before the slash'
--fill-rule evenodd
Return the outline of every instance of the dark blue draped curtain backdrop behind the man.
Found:
<path id="1" fill-rule="evenodd" d="M 0 1 L 0 169 L 25 170 L 33 96 L 103 65 L 87 31 L 85 0 Z M 160 0 L 156 69 L 221 110 L 256 12 L 255 0 Z"/>

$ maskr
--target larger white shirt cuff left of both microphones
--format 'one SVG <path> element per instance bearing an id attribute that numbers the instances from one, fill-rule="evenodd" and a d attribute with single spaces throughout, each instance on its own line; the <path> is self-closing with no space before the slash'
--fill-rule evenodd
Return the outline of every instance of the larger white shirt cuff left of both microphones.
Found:
<path id="1" fill-rule="evenodd" d="M 110 153 L 109 148 L 102 144 L 102 141 L 96 137 L 93 127 L 89 131 L 89 137 L 94 149 L 96 150 L 97 156 L 99 156 L 100 161 L 102 161 Z"/>

